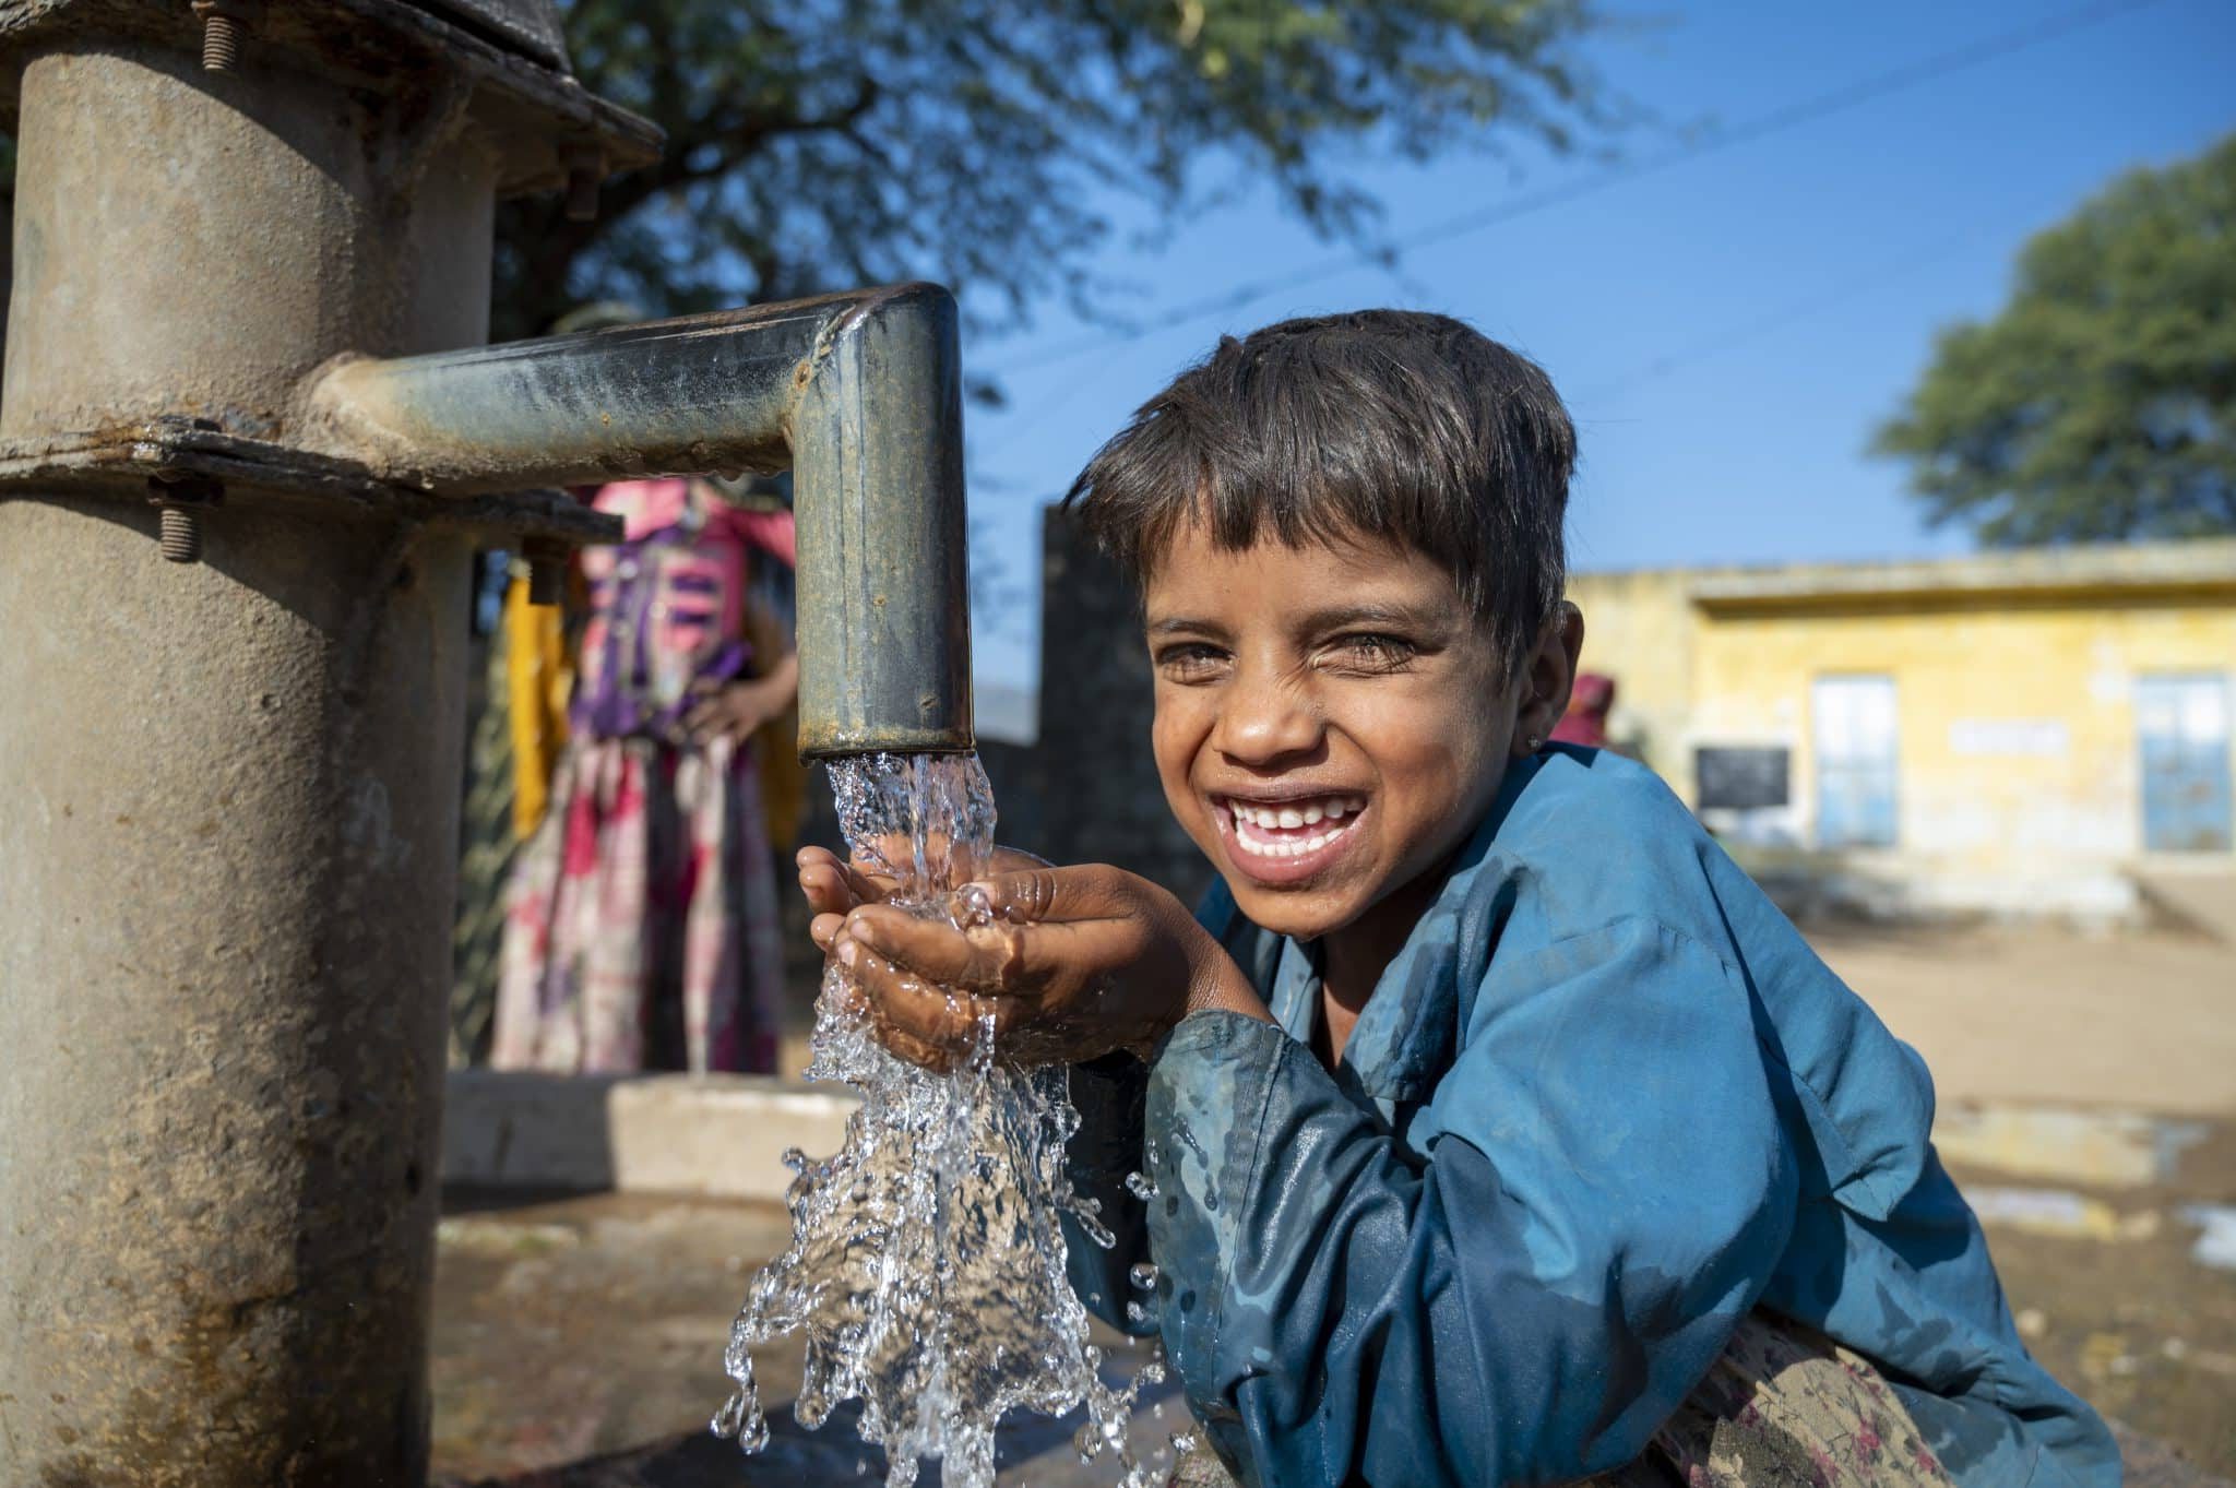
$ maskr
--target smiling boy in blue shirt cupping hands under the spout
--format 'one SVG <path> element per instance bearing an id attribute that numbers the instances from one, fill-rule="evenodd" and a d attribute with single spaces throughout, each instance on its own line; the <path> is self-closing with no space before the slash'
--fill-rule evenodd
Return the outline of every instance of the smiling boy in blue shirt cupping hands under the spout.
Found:
<path id="1" fill-rule="evenodd" d="M 1923 1063 L 1643 769 L 1543 744 L 1574 431 L 1471 328 L 1221 342 L 1073 507 L 1143 585 L 1201 918 L 1008 862 L 993 925 L 803 853 L 901 1052 L 1073 1066 L 1082 1296 L 1250 1484 L 2115 1484 L 1927 1144 Z M 1122 1177 L 1156 1184 L 1136 1198 Z M 1140 1332 L 1140 1327 L 1136 1327 Z"/>

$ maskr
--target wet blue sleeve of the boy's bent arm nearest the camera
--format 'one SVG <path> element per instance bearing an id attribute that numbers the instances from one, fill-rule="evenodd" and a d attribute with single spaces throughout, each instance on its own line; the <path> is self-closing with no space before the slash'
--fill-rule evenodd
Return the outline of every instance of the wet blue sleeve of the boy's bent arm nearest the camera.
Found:
<path id="1" fill-rule="evenodd" d="M 1630 921 L 1500 952 L 1462 1019 L 1411 1144 L 1268 1023 L 1198 1014 L 1156 1059 L 1165 1347 L 1257 1484 L 1621 1466 L 1784 1247 L 1793 1162 L 1708 947 Z"/>

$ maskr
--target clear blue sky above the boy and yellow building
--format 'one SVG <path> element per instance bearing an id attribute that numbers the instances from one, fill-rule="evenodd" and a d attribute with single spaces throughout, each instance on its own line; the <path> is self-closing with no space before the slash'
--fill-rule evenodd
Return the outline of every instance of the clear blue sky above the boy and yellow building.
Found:
<path id="1" fill-rule="evenodd" d="M 2073 0 L 1695 0 L 1592 45 L 1605 83 L 1661 125 L 1744 125 L 1974 42 L 2073 16 Z M 1737 143 L 1574 201 L 1357 268 L 1225 315 L 1008 375 L 1011 407 L 968 413 L 982 561 L 1022 588 L 977 617 L 977 668 L 1033 686 L 1040 507 L 1129 409 L 1216 335 L 1286 315 L 1402 304 L 1460 315 L 1547 366 L 1583 440 L 1572 565 L 1659 567 L 1961 552 L 1927 532 L 1901 469 L 1865 456 L 1950 319 L 1992 315 L 2017 248 L 2131 165 L 2196 154 L 2236 127 L 2236 0 L 2144 0 L 2093 25 Z M 1523 150 L 1424 168 L 1362 161 L 1402 237 L 1601 174 Z M 1120 223 L 1140 221 L 1111 203 Z M 1125 232 L 1114 235 L 1122 239 Z M 1241 282 L 1321 264 L 1330 246 L 1270 199 L 1192 221 L 1158 252 L 1098 268 L 1152 284 L 1152 319 Z M 1093 335 L 1060 304 L 973 337 L 1002 373 Z"/>

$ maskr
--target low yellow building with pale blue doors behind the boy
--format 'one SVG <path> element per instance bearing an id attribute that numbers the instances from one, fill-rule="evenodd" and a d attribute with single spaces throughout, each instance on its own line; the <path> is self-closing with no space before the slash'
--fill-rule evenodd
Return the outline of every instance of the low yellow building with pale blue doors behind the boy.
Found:
<path id="1" fill-rule="evenodd" d="M 1576 574 L 1583 668 L 1733 849 L 1872 909 L 2236 874 L 2236 541 Z"/>

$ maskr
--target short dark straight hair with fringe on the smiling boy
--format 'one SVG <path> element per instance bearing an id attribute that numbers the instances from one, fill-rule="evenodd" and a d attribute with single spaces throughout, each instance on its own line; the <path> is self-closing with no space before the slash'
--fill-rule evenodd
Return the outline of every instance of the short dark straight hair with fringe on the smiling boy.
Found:
<path id="1" fill-rule="evenodd" d="M 1136 409 L 1064 507 L 1145 583 L 1183 518 L 1225 550 L 1395 538 L 1458 585 L 1509 670 L 1561 603 L 1576 429 L 1552 380 L 1449 315 L 1283 319 Z"/>

